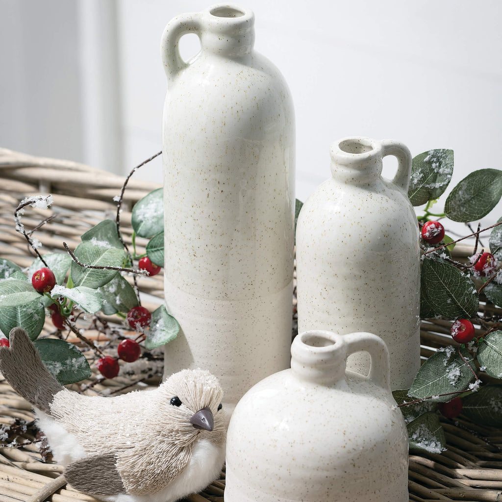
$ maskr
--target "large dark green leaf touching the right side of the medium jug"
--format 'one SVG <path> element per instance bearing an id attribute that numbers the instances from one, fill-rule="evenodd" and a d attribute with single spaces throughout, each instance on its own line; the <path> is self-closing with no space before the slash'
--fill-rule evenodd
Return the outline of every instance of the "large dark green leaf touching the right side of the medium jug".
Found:
<path id="1" fill-rule="evenodd" d="M 425 258 L 420 278 L 420 315 L 470 318 L 479 308 L 472 279 L 445 262 Z"/>

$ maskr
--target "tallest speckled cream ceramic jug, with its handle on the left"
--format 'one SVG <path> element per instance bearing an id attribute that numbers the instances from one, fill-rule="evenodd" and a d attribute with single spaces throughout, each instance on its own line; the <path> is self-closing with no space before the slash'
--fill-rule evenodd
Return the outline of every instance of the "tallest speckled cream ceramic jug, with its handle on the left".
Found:
<path id="1" fill-rule="evenodd" d="M 196 33 L 201 52 L 181 60 Z M 181 325 L 165 374 L 202 367 L 235 405 L 289 366 L 294 112 L 279 70 L 253 50 L 254 14 L 217 5 L 162 37 L 165 298 Z"/>

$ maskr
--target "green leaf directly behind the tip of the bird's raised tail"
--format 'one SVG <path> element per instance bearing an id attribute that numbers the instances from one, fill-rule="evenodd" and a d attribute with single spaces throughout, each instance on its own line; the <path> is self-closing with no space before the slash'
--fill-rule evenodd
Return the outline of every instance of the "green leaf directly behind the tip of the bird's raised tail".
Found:
<path id="1" fill-rule="evenodd" d="M 11 329 L 23 328 L 32 340 L 36 340 L 45 322 L 45 309 L 40 298 L 16 307 L 2 307 L 0 330 L 7 337 Z"/>

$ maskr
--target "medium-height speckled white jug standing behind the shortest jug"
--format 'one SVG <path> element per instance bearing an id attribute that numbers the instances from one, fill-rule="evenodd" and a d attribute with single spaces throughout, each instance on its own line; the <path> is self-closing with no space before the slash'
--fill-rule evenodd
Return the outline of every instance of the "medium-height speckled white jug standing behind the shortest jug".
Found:
<path id="1" fill-rule="evenodd" d="M 398 171 L 382 177 L 382 159 Z M 391 357 L 391 388 L 420 367 L 420 250 L 408 199 L 411 155 L 395 141 L 345 138 L 331 147 L 332 177 L 302 207 L 296 230 L 298 329 L 376 333 Z M 367 374 L 367 354 L 347 367 Z"/>

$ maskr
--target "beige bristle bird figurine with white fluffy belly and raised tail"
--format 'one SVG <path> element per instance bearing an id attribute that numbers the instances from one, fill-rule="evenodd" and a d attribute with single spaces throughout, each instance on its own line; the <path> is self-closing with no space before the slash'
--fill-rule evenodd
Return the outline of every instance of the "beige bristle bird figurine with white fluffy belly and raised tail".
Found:
<path id="1" fill-rule="evenodd" d="M 174 502 L 205 488 L 225 459 L 223 391 L 185 369 L 157 389 L 83 396 L 47 371 L 27 333 L 0 347 L 0 371 L 36 409 L 55 459 L 75 488 L 116 502 Z"/>

